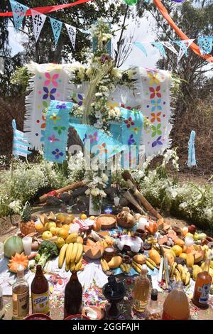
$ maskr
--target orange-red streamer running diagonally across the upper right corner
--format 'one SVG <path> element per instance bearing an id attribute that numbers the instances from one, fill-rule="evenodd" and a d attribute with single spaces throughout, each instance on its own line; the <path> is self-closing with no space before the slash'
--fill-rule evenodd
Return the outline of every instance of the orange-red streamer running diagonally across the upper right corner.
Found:
<path id="1" fill-rule="evenodd" d="M 155 4 L 155 6 L 158 7 L 160 13 L 163 15 L 166 21 L 168 21 L 170 26 L 176 31 L 176 33 L 178 33 L 178 36 L 180 36 L 182 40 L 189 40 L 190 38 L 188 38 L 187 35 L 185 35 L 185 33 L 183 33 L 180 30 L 180 28 L 178 28 L 173 19 L 170 17 L 168 11 L 165 9 L 165 6 L 163 6 L 162 2 L 160 0 L 153 0 L 153 3 Z M 197 44 L 191 43 L 190 48 L 194 53 L 200 55 L 200 57 L 202 58 L 205 58 L 209 63 L 213 63 L 212 55 L 202 55 L 202 53 L 200 52 L 200 48 Z"/>

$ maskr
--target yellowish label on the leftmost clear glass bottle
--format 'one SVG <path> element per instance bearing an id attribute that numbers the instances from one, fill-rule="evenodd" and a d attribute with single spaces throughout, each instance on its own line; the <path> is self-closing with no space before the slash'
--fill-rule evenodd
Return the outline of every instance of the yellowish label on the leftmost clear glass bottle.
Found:
<path id="1" fill-rule="evenodd" d="M 29 314 L 29 291 L 21 294 L 13 293 L 13 316 L 25 318 Z"/>

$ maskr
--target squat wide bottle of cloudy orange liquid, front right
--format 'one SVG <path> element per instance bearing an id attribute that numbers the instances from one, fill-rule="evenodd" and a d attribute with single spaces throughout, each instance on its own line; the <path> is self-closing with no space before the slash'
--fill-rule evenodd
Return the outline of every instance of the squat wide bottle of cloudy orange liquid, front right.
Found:
<path id="1" fill-rule="evenodd" d="M 175 288 L 165 298 L 163 304 L 163 320 L 188 320 L 190 318 L 190 304 L 183 291 L 182 281 L 175 284 Z"/>

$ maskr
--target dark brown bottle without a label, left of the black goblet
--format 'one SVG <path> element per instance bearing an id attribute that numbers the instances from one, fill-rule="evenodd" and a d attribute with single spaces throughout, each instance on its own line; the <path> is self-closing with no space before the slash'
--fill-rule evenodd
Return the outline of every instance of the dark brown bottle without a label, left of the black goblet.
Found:
<path id="1" fill-rule="evenodd" d="M 65 287 L 65 312 L 64 318 L 72 314 L 82 313 L 82 285 L 77 278 L 77 272 L 73 271 Z"/>

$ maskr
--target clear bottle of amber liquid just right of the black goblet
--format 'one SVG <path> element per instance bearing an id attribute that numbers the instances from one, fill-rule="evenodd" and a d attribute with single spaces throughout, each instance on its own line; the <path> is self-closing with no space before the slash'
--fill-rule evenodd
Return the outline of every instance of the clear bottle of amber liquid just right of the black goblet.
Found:
<path id="1" fill-rule="evenodd" d="M 150 279 L 147 276 L 147 266 L 143 264 L 141 267 L 141 275 L 136 279 L 136 285 L 133 290 L 133 310 L 144 312 L 148 304 L 148 296 L 150 293 Z"/>

